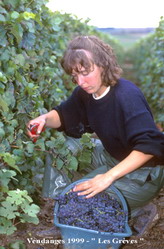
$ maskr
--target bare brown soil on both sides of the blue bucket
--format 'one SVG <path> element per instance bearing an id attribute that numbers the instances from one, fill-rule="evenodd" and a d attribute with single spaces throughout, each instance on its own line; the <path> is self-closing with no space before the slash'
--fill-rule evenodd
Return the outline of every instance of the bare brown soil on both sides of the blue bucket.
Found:
<path id="1" fill-rule="evenodd" d="M 0 245 L 5 249 L 62 249 L 62 238 L 60 236 L 51 236 L 49 239 L 59 243 L 45 243 L 46 237 L 38 236 L 38 232 L 47 230 L 53 227 L 53 212 L 54 201 L 52 199 L 41 199 L 41 211 L 39 214 L 40 223 L 38 225 L 33 224 L 21 224 L 18 226 L 18 230 L 10 236 L 1 236 Z M 164 190 L 153 200 L 153 203 L 158 208 L 157 219 L 153 222 L 144 236 L 135 237 L 132 236 L 124 241 L 121 245 L 121 249 L 163 249 L 164 248 Z M 10 243 L 21 240 L 23 246 L 11 247 Z M 52 242 L 51 241 L 51 242 Z"/>

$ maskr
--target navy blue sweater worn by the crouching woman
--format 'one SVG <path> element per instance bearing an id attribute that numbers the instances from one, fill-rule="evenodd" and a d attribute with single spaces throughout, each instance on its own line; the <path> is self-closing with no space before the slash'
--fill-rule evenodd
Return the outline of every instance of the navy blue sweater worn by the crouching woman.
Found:
<path id="1" fill-rule="evenodd" d="M 73 137 L 95 132 L 105 149 L 118 160 L 132 150 L 155 155 L 160 160 L 164 155 L 164 134 L 157 129 L 140 89 L 125 79 L 120 79 L 99 100 L 77 86 L 54 109 L 61 119 L 60 131 Z"/>

